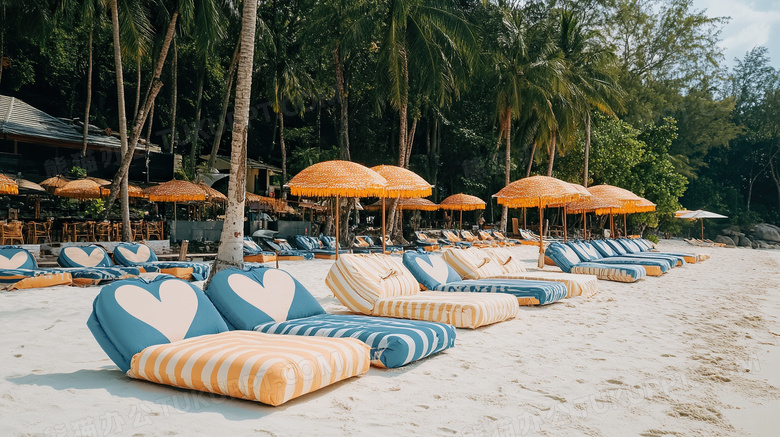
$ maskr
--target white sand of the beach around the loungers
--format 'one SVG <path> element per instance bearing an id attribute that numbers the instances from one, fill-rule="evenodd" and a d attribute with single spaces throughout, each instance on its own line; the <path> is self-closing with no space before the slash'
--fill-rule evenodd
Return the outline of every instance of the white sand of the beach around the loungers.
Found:
<path id="1" fill-rule="evenodd" d="M 661 248 L 712 259 L 276 408 L 126 377 L 85 325 L 97 287 L 0 293 L 0 436 L 779 435 L 780 251 Z M 331 264 L 282 267 L 338 312 Z"/>

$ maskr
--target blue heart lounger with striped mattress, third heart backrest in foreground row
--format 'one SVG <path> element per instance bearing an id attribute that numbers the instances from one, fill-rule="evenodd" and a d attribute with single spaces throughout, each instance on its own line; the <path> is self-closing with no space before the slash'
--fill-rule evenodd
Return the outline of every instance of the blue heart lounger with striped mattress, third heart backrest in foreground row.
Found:
<path id="1" fill-rule="evenodd" d="M 520 305 L 547 305 L 565 299 L 567 294 L 566 286 L 559 282 L 523 279 L 464 280 L 438 255 L 406 252 L 404 266 L 412 272 L 417 282 L 432 291 L 506 293 L 514 296 Z"/>

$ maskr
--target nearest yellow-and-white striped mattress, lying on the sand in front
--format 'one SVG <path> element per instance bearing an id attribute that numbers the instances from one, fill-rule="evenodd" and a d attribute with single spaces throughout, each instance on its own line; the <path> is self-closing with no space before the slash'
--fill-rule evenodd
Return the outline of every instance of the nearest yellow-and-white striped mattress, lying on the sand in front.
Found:
<path id="1" fill-rule="evenodd" d="M 158 384 L 281 405 L 369 368 L 368 346 L 351 338 L 231 331 L 149 346 L 127 375 Z"/>

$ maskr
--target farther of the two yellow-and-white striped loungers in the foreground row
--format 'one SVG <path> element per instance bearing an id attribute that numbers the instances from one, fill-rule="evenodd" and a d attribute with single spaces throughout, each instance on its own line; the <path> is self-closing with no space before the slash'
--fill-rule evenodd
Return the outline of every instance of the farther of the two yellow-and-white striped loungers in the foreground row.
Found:
<path id="1" fill-rule="evenodd" d="M 543 272 L 525 270 L 525 266 L 512 253 L 503 248 L 482 249 L 493 261 L 501 266 L 503 273 L 496 279 L 529 279 L 534 281 L 561 282 L 566 286 L 566 297 L 593 297 L 599 292 L 599 278 L 594 275 L 578 275 L 563 272 Z"/>

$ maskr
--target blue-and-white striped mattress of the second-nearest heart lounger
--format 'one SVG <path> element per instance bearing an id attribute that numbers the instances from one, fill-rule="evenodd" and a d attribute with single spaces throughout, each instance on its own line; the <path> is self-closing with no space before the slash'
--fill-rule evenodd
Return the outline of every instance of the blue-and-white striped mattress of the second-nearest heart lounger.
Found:
<path id="1" fill-rule="evenodd" d="M 356 338 L 371 348 L 371 364 L 401 367 L 455 346 L 455 328 L 444 323 L 324 314 L 255 327 L 268 334 Z"/>

